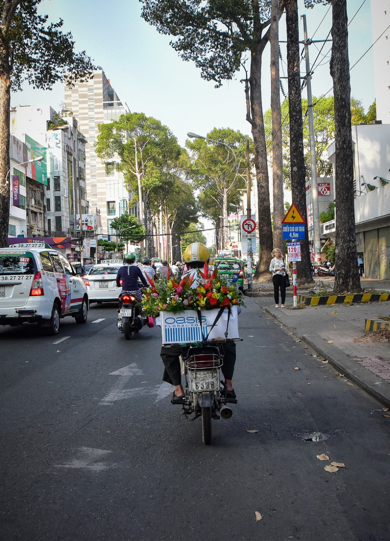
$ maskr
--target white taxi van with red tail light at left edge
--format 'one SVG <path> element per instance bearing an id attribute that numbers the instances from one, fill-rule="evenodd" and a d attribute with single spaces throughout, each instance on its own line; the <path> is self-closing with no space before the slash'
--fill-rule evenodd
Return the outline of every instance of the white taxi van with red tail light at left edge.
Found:
<path id="1" fill-rule="evenodd" d="M 44 243 L 0 248 L 0 325 L 38 323 L 57 334 L 67 315 L 76 323 L 88 315 L 87 288 L 69 261 Z"/>

